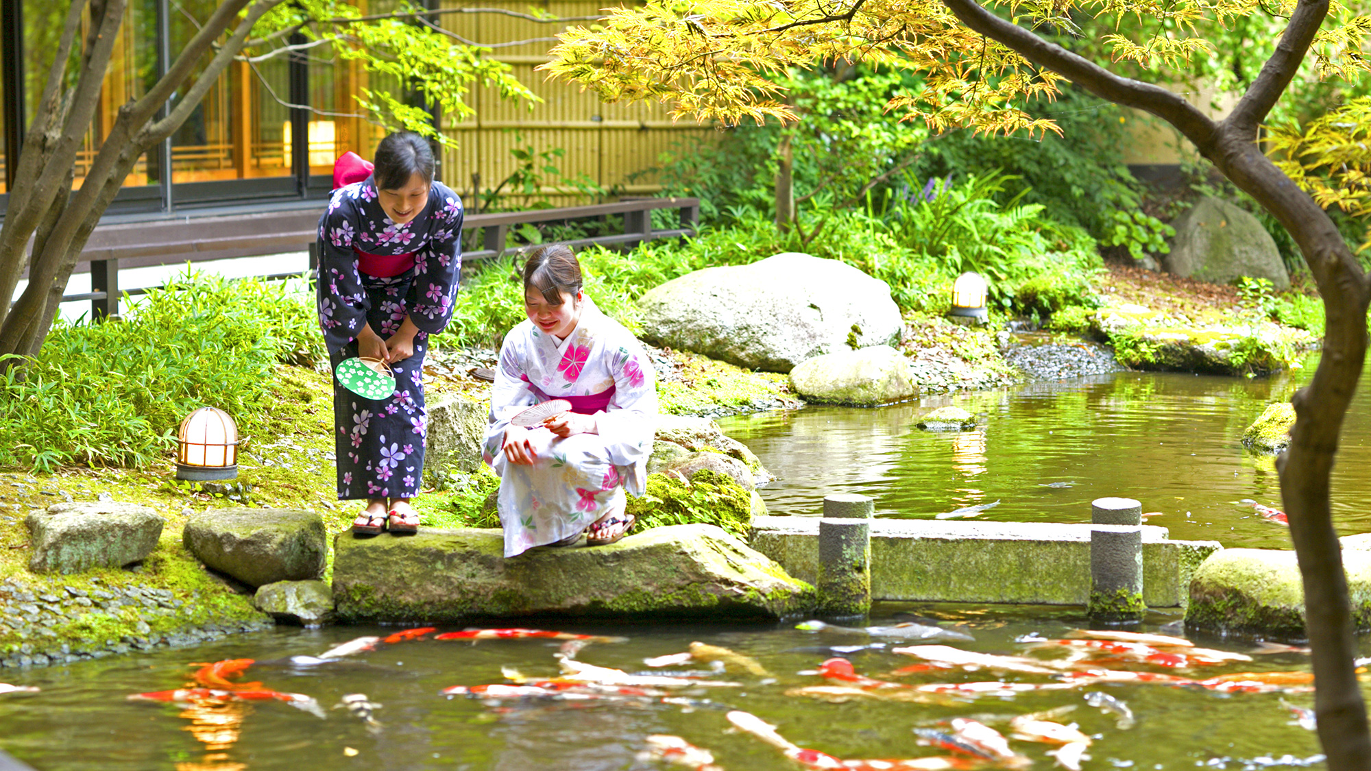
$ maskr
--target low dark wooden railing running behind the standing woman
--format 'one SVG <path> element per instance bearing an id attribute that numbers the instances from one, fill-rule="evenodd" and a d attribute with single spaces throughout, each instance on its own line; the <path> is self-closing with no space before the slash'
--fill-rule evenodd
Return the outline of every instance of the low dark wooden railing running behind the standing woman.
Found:
<path id="1" fill-rule="evenodd" d="M 676 210 L 680 220 L 679 226 L 654 230 L 653 211 L 658 209 Z M 318 209 L 296 207 L 285 211 L 256 209 L 237 214 L 177 217 L 97 226 L 90 233 L 90 240 L 78 262 L 78 266 L 82 262 L 90 263 L 90 291 L 64 295 L 62 302 L 90 300 L 90 317 L 101 318 L 119 314 L 119 296 L 122 294 L 143 295 L 156 288 L 145 287 L 121 292 L 121 265 L 123 268 L 144 268 L 308 250 L 308 273 L 313 276 L 318 266 L 314 250 L 322 210 L 324 203 L 321 202 Z M 624 218 L 622 233 L 588 236 L 563 243 L 572 247 L 590 244 L 632 247 L 653 239 L 691 236 L 699 221 L 699 199 L 644 198 L 566 209 L 468 214 L 462 229 L 465 233 L 478 230 L 478 243 L 483 248 L 463 251 L 462 259 L 465 262 L 494 259 L 533 248 L 532 246 L 505 247 L 510 228 L 522 224 L 603 220 L 609 215 Z M 258 276 L 258 278 L 278 280 L 299 274 L 273 273 Z"/>

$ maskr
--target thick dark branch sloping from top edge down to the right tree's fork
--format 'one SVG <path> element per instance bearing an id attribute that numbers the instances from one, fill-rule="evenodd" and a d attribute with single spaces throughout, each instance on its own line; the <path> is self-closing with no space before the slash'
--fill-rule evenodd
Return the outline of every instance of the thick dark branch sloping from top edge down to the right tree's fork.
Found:
<path id="1" fill-rule="evenodd" d="M 943 4 L 972 30 L 1001 43 L 1034 64 L 1060 73 L 1095 96 L 1126 107 L 1137 107 L 1167 121 L 1180 129 L 1201 152 L 1213 144 L 1217 129 L 1215 122 L 1178 95 L 1152 84 L 1119 77 L 997 16 L 975 0 L 943 0 Z"/>

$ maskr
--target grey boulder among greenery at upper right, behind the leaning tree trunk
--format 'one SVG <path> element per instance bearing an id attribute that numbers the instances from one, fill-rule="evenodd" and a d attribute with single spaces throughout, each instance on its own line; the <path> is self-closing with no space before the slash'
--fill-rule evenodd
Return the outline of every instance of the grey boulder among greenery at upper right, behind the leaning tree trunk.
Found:
<path id="1" fill-rule="evenodd" d="M 1171 273 L 1213 284 L 1250 276 L 1270 278 L 1276 289 L 1290 288 L 1276 243 L 1256 217 L 1237 206 L 1202 198 L 1172 226 L 1176 237 L 1164 261 Z"/>

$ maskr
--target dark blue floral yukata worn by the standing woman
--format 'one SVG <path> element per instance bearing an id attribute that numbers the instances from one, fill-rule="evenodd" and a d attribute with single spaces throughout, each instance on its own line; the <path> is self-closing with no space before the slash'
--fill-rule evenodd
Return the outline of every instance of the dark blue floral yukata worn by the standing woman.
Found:
<path id="1" fill-rule="evenodd" d="M 424 354 L 428 336 L 441 332 L 452 317 L 462 272 L 462 200 L 433 182 L 424 211 L 396 225 L 367 177 L 333 191 L 319 218 L 318 246 L 319 325 L 335 369 L 358 355 L 356 335 L 363 322 L 383 339 L 399 331 L 406 316 L 420 328 L 414 355 L 391 364 L 395 392 L 389 398 L 358 396 L 333 379 L 339 499 L 411 498 L 424 476 L 428 436 Z M 406 254 L 414 265 L 392 276 L 361 269 L 377 262 L 407 265 L 407 259 L 393 259 Z"/>

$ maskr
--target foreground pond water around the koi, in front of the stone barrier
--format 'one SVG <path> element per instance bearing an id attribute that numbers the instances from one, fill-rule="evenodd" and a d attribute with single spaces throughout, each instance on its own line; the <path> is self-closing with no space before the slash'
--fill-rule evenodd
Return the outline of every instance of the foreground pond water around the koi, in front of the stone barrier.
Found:
<path id="1" fill-rule="evenodd" d="M 880 604 L 872 621 L 921 619 L 973 635 L 960 648 L 987 653 L 1024 653 L 1015 638 L 1028 632 L 1061 637 L 1084 624 L 1078 610 L 1064 608 L 965 608 L 954 605 Z M 1174 617 L 1153 615 L 1150 628 Z M 558 628 L 548 626 L 544 628 Z M 792 623 L 714 627 L 653 624 L 587 627 L 574 631 L 627 635 L 624 643 L 594 643 L 577 659 L 602 667 L 643 671 L 643 659 L 686 650 L 691 641 L 728 646 L 754 656 L 775 676 L 728 675 L 743 683 L 729 689 L 688 689 L 687 698 L 712 704 L 681 707 L 661 702 L 595 704 L 509 701 L 498 708 L 439 691 L 452 685 L 500 683 L 502 667 L 529 676 L 557 672 L 550 641 L 485 641 L 477 645 L 421 639 L 381 646 L 374 652 L 313 668 L 254 664 L 248 680 L 265 687 L 303 693 L 325 709 L 325 719 L 282 702 L 177 707 L 126 701 L 128 694 L 182 687 L 191 663 L 250 657 L 259 661 L 314 654 L 361 634 L 395 628 L 277 630 L 185 650 L 160 650 L 32 671 L 5 671 L 15 685 L 33 685 L 33 694 L 0 696 L 0 749 L 41 771 L 175 770 L 175 771 L 306 771 L 347 768 L 470 768 L 470 770 L 664 770 L 661 761 L 636 760 L 648 734 L 676 734 L 714 752 L 731 771 L 792 771 L 799 768 L 777 750 L 742 734 L 727 733 L 725 709 L 751 712 L 803 746 L 845 759 L 899 759 L 946 755 L 919 746 L 912 728 L 939 720 L 980 715 L 1004 733 L 1010 716 L 1064 705 L 1076 709 L 1064 723 L 1079 723 L 1095 737 L 1091 768 L 1257 768 L 1318 763 L 1315 734 L 1293 723 L 1285 704 L 1311 707 L 1308 693 L 1220 694 L 1164 685 L 1094 685 L 1073 690 L 1024 693 L 1010 700 L 982 697 L 973 702 L 923 705 L 906 702 L 828 704 L 786 696 L 798 686 L 823 685 L 812 674 L 832 656 L 829 646 L 864 645 L 865 635 L 803 632 Z M 562 627 L 565 628 L 565 627 Z M 939 641 L 931 641 L 939 642 Z M 1216 645 L 1216 648 L 1233 649 Z M 943 671 L 894 676 L 914 664 L 887 650 L 846 653 L 858 674 L 903 683 L 975 682 L 988 672 Z M 1041 654 L 1041 653 L 1039 653 Z M 1202 671 L 1165 669 L 1206 678 L 1222 672 L 1307 669 L 1307 656 L 1254 656 Z M 691 667 L 699 669 L 699 665 Z M 1132 667 L 1139 671 L 1164 671 Z M 723 679 L 723 678 L 718 678 Z M 1004 675 L 1015 682 L 1052 682 L 1042 675 Z M 1112 716 L 1089 707 L 1083 694 L 1105 691 L 1123 700 L 1137 726 L 1120 730 Z M 345 709 L 328 709 L 345 693 L 365 693 L 383 707 L 383 727 L 370 734 Z M 993 722 L 993 720 L 999 722 Z M 1016 750 L 1039 768 L 1052 767 L 1047 745 L 1015 741 Z M 355 752 L 355 755 L 348 755 Z"/>

